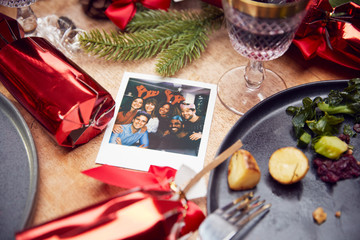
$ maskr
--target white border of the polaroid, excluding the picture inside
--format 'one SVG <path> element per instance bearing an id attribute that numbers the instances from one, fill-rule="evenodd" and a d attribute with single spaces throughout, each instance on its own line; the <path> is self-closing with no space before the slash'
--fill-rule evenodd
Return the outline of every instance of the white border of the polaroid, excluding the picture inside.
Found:
<path id="1" fill-rule="evenodd" d="M 143 79 L 144 81 L 154 81 L 156 83 L 169 82 L 180 86 L 189 85 L 193 87 L 201 87 L 210 91 L 205 114 L 204 128 L 197 156 L 109 143 L 120 104 L 124 98 L 129 80 L 133 78 Z M 105 130 L 100 150 L 96 158 L 96 163 L 141 171 L 148 171 L 150 165 L 168 166 L 174 169 L 179 169 L 181 165 L 186 165 L 195 172 L 201 171 L 204 166 L 206 148 L 209 140 L 210 127 L 216 102 L 216 85 L 178 78 L 163 78 L 155 75 L 125 72 L 115 102 L 115 114 Z"/>

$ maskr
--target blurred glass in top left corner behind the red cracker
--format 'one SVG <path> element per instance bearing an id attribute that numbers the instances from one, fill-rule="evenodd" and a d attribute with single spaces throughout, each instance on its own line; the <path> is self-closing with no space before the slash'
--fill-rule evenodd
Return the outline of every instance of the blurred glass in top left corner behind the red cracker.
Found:
<path id="1" fill-rule="evenodd" d="M 25 34 L 36 30 L 36 16 L 30 5 L 37 0 L 0 0 L 0 5 L 17 8 L 16 20 L 23 27 Z"/>

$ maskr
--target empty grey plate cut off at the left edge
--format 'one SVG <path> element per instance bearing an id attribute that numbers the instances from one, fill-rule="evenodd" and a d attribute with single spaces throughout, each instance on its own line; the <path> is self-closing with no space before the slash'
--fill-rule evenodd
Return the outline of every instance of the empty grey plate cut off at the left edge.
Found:
<path id="1" fill-rule="evenodd" d="M 0 239 L 27 226 L 35 201 L 38 163 L 30 130 L 16 107 L 0 94 Z"/>

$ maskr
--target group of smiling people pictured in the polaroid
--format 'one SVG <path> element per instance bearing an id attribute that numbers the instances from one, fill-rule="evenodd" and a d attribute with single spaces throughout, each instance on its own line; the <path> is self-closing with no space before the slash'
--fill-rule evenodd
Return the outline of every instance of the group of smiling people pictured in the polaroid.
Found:
<path id="1" fill-rule="evenodd" d="M 204 118 L 194 103 L 135 97 L 120 107 L 109 142 L 197 156 Z"/>

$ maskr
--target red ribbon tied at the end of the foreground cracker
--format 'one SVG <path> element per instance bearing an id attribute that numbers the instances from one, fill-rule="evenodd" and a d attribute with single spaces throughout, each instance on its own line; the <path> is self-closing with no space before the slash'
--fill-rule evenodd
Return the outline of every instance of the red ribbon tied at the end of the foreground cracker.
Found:
<path id="1" fill-rule="evenodd" d="M 170 167 L 150 166 L 148 172 L 140 172 L 109 165 L 83 171 L 84 174 L 99 181 L 122 188 L 141 187 L 146 190 L 169 191 L 169 181 L 175 177 L 176 170 Z M 205 219 L 204 213 L 195 203 L 188 201 L 185 226 L 181 234 L 195 231 Z"/>

